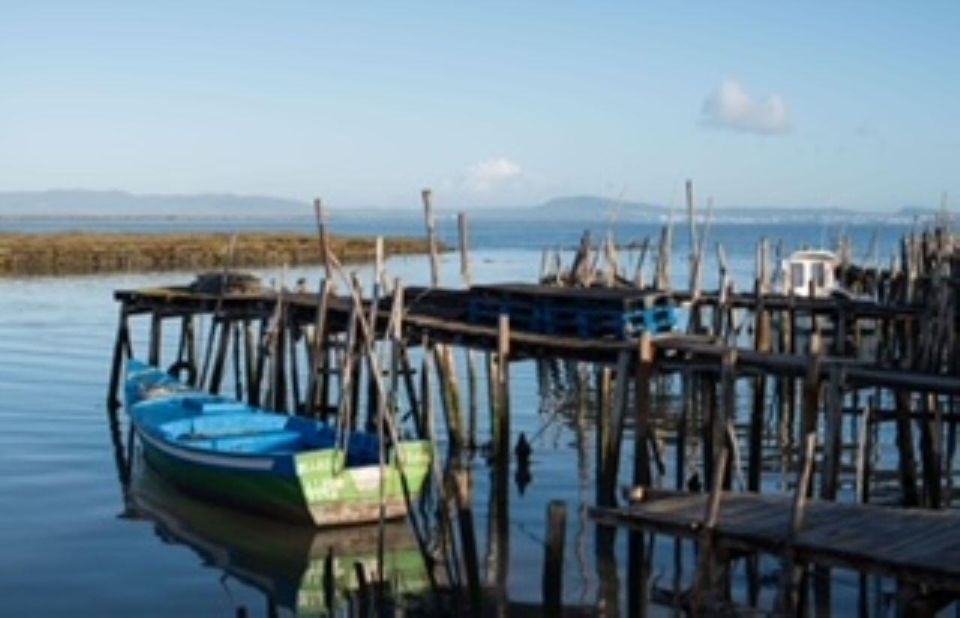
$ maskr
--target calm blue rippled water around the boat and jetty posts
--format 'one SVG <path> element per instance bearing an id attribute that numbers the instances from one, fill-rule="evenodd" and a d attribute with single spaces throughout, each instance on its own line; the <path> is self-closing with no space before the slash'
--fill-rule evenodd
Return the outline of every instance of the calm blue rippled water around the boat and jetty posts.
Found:
<path id="1" fill-rule="evenodd" d="M 339 233 L 421 233 L 412 222 L 382 222 L 374 227 L 369 222 L 334 221 L 333 225 Z M 169 225 L 148 231 L 167 229 Z M 480 281 L 532 280 L 539 269 L 540 249 L 574 245 L 581 231 L 575 224 L 478 223 L 473 230 L 476 277 Z M 875 231 L 884 256 L 902 232 L 897 228 L 847 230 L 855 239 L 858 256 L 866 251 Z M 451 222 L 445 221 L 441 232 L 455 242 Z M 782 238 L 790 247 L 799 247 L 820 245 L 835 232 L 819 226 L 721 226 L 713 238 L 725 245 L 740 287 L 746 287 L 759 237 Z M 655 234 L 652 226 L 626 226 L 618 231 L 623 241 Z M 685 234 L 678 228 L 677 281 L 684 280 L 680 256 L 687 250 L 682 237 Z M 708 273 L 715 268 L 711 257 Z M 445 257 L 444 281 L 459 283 L 457 269 L 456 257 Z M 426 283 L 428 276 L 422 258 L 390 260 L 388 270 L 409 284 Z M 303 276 L 315 282 L 319 270 L 301 269 L 287 276 L 290 281 Z M 0 615 L 232 616 L 240 606 L 250 615 L 266 615 L 268 595 L 284 615 L 309 605 L 316 590 L 317 572 L 312 569 L 326 547 L 336 547 L 338 555 L 346 551 L 343 548 L 353 548 L 358 555 L 366 551 L 362 542 L 349 535 L 277 530 L 194 503 L 142 473 L 136 475 L 132 492 L 122 491 L 104 407 L 117 315 L 112 292 L 191 278 L 189 273 L 167 273 L 0 280 L 0 420 L 5 429 L 0 435 Z M 145 325 L 134 326 L 134 350 L 143 352 Z M 166 344 L 172 350 L 173 340 Z M 582 514 L 582 507 L 593 501 L 592 429 L 575 432 L 562 415 L 541 412 L 535 369 L 533 363 L 512 367 L 513 429 L 534 436 L 534 461 L 529 486 L 521 494 L 514 485 L 510 497 L 510 598 L 539 598 L 545 508 L 549 500 L 559 498 L 569 508 L 567 600 L 596 606 L 600 583 L 615 582 L 616 572 L 598 574 L 594 531 Z M 486 409 L 482 396 L 480 409 Z M 478 425 L 484 439 L 489 428 L 485 415 Z M 630 461 L 629 448 L 623 457 Z M 482 557 L 487 546 L 489 492 L 482 459 L 474 462 L 474 471 Z M 411 562 L 409 538 L 403 530 L 395 536 L 397 577 L 415 590 L 422 580 L 418 580 L 416 556 Z M 621 579 L 624 544 L 618 541 L 616 552 Z M 688 550 L 683 554 L 686 569 L 680 577 L 688 581 L 695 563 Z M 677 576 L 673 555 L 672 543 L 658 542 L 652 570 L 660 585 Z M 773 568 L 764 565 L 765 571 Z M 851 582 L 854 576 L 838 579 L 836 609 L 855 606 Z M 738 574 L 735 589 L 743 585 Z M 772 590 L 764 589 L 763 594 Z"/>

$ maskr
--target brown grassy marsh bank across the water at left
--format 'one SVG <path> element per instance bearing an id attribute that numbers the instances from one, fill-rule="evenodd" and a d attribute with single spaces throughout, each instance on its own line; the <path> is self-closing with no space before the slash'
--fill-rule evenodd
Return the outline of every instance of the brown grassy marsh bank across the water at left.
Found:
<path id="1" fill-rule="evenodd" d="M 10 234 L 0 233 L 0 277 L 164 272 L 222 268 L 231 234 Z M 384 255 L 429 252 L 425 239 L 383 239 Z M 445 248 L 441 247 L 442 250 Z M 341 262 L 373 259 L 373 237 L 332 236 Z M 240 233 L 231 268 L 322 264 L 320 242 L 310 234 Z"/>

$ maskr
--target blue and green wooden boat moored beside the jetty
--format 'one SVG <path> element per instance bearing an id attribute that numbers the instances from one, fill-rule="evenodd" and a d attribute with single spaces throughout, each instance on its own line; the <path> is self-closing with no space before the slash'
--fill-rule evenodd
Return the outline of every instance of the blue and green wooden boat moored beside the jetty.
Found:
<path id="1" fill-rule="evenodd" d="M 267 412 L 194 390 L 131 360 L 127 409 L 144 459 L 188 493 L 318 527 L 407 512 L 426 480 L 423 440 L 385 445 L 376 435 Z"/>

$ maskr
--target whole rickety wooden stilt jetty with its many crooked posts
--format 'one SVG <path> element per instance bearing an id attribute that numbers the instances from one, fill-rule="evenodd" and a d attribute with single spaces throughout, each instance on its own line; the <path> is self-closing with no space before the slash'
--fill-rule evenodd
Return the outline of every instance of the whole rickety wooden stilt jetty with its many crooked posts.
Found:
<path id="1" fill-rule="evenodd" d="M 428 241 L 436 247 L 429 192 L 423 197 Z M 676 601 L 684 608 L 703 612 L 723 601 L 729 578 L 724 583 L 722 573 L 730 562 L 758 554 L 785 565 L 778 611 L 802 611 L 807 575 L 833 567 L 895 579 L 911 613 L 952 602 L 960 596 L 960 519 L 948 510 L 960 421 L 960 251 L 953 237 L 944 226 L 914 232 L 887 269 L 853 264 L 847 247 L 837 273 L 845 293 L 832 297 L 775 291 L 766 241 L 758 246 L 753 291 L 737 292 L 720 248 L 718 288 L 704 291 L 709 228 L 696 225 L 692 205 L 690 213 L 686 289 L 672 282 L 670 228 L 659 246 L 631 246 L 633 274 L 623 248 L 610 241 L 595 246 L 585 235 L 568 266 L 547 252 L 537 283 L 470 285 L 461 217 L 465 288 L 440 285 L 434 250 L 426 288 L 390 281 L 378 260 L 376 283 L 364 295 L 356 279 L 328 259 L 316 292 L 121 290 L 108 401 L 116 402 L 124 358 L 132 355 L 130 320 L 145 316 L 150 362 L 186 370 L 213 392 L 232 370 L 237 397 L 253 404 L 324 418 L 356 418 L 366 410 L 369 422 L 381 409 L 377 398 L 387 397 L 391 413 L 406 410 L 417 432 L 436 438 L 439 401 L 456 460 L 478 443 L 475 432 L 484 425 L 477 422 L 476 358 L 468 356 L 463 389 L 453 350 L 483 353 L 494 471 L 491 537 L 499 550 L 492 585 L 505 595 L 510 364 L 535 359 L 569 369 L 552 373 L 568 376 L 574 396 L 594 411 L 597 524 L 693 538 L 701 546 L 698 584 Z M 671 332 L 658 332 L 666 330 L 657 327 L 659 317 L 631 314 L 677 308 L 687 324 Z M 210 322 L 205 345 L 198 316 Z M 602 326 L 585 328 L 591 319 Z M 178 325 L 180 344 L 175 358 L 162 359 L 169 322 Z M 415 348 L 419 366 L 410 354 Z M 375 362 L 377 349 L 386 364 Z M 586 372 L 577 369 L 583 367 Z M 671 406 L 664 423 L 662 410 Z M 886 451 L 892 458 L 878 455 L 879 443 L 891 435 L 881 434 L 881 426 L 892 429 Z M 621 471 L 626 439 L 633 441 L 632 461 Z M 764 493 L 764 474 L 771 471 L 796 475 L 792 494 Z M 449 516 L 441 525 L 460 566 L 448 566 L 448 575 L 480 598 L 471 496 L 462 489 L 469 482 L 454 472 L 444 474 Z M 620 483 L 635 488 L 624 506 L 618 506 Z M 563 519 L 558 512 L 548 518 Z M 562 555 L 557 527 L 550 526 L 548 556 Z M 643 546 L 634 535 L 631 555 Z M 629 576 L 643 576 L 633 565 Z M 545 570 L 546 615 L 558 615 L 561 580 L 562 572 Z M 637 605 L 631 608 L 634 613 Z"/>

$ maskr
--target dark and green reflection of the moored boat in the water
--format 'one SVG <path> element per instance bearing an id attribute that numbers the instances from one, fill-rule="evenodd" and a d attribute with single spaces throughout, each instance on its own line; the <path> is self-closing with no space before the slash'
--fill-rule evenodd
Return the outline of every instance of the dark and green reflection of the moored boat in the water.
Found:
<path id="1" fill-rule="evenodd" d="M 298 616 L 330 615 L 355 599 L 358 570 L 369 585 L 378 581 L 375 525 L 318 530 L 279 523 L 195 500 L 147 466 L 134 468 L 126 516 L 152 521 L 163 541 L 186 545 L 209 566 L 263 592 L 273 607 Z M 384 528 L 382 573 L 393 599 L 429 587 L 406 522 Z"/>

